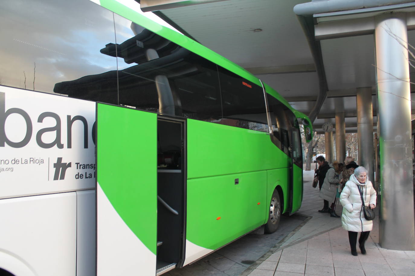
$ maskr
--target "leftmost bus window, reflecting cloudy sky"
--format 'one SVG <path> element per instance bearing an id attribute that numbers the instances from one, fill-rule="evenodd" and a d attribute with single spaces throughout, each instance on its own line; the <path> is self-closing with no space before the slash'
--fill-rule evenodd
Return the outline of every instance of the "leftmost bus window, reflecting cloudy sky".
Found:
<path id="1" fill-rule="evenodd" d="M 84 0 L 3 0 L 0 24 L 2 85 L 96 100 L 110 87 L 116 98 L 116 74 L 90 77 L 117 69 L 100 53 L 115 41 L 112 12 Z"/>

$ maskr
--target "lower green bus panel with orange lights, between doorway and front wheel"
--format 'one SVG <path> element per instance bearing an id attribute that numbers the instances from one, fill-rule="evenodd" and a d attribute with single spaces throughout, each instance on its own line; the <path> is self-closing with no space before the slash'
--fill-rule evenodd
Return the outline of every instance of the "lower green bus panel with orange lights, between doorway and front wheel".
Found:
<path id="1" fill-rule="evenodd" d="M 215 250 L 264 224 L 267 208 L 266 171 L 188 180 L 186 238 Z"/>

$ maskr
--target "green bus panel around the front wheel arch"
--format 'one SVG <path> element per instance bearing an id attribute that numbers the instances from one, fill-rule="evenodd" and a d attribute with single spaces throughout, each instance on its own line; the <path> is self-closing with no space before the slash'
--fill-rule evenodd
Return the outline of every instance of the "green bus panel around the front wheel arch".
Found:
<path id="1" fill-rule="evenodd" d="M 267 171 L 267 202 L 271 202 L 271 196 L 272 193 L 274 192 L 274 189 L 279 186 L 281 187 L 283 194 L 282 196 L 284 197 L 284 206 L 283 206 L 283 211 L 282 213 L 285 213 L 287 211 L 287 206 L 288 206 L 288 198 L 289 198 L 289 183 L 288 181 L 290 180 L 290 178 L 288 177 L 290 174 L 290 168 L 281 168 L 281 169 L 276 169 L 276 170 L 268 170 Z M 281 194 L 280 194 L 281 195 Z M 268 217 L 267 217 L 268 220 Z"/>

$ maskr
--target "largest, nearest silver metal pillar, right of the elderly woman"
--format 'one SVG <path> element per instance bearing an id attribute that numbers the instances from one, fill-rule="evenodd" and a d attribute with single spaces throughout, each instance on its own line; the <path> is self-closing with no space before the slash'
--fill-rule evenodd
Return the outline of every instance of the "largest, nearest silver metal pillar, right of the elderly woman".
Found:
<path id="1" fill-rule="evenodd" d="M 415 250 L 405 13 L 381 14 L 375 20 L 381 166 L 379 242 L 388 249 Z"/>

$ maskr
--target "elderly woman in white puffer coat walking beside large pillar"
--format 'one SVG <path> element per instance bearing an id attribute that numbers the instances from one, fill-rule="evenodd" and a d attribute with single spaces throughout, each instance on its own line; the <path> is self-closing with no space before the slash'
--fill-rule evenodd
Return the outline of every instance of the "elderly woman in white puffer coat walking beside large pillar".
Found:
<path id="1" fill-rule="evenodd" d="M 349 231 L 349 242 L 352 255 L 357 256 L 356 239 L 357 232 L 361 232 L 359 237 L 359 248 L 362 254 L 366 254 L 364 243 L 369 238 L 373 223 L 364 218 L 362 200 L 371 209 L 376 206 L 376 191 L 367 179 L 367 170 L 364 167 L 357 167 L 349 180 L 346 182 L 342 193 L 340 194 L 340 203 L 343 206 L 342 226 Z"/>

